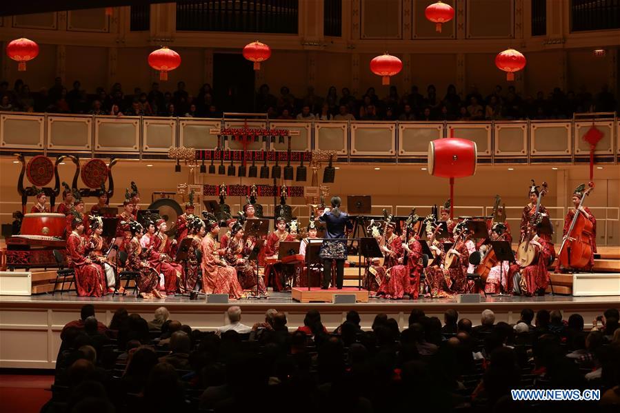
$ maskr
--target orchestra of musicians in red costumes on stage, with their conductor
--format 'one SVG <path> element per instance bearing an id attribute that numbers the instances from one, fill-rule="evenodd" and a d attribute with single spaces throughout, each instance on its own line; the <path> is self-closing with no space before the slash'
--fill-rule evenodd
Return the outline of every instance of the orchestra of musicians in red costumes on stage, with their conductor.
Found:
<path id="1" fill-rule="evenodd" d="M 562 245 L 556 271 L 592 270 L 596 252 L 596 219 L 583 206 L 592 189 L 580 185 L 572 193 L 563 225 Z M 314 208 L 305 228 L 287 216 L 286 200 L 272 217 L 274 230 L 266 235 L 248 234 L 248 223 L 260 219 L 262 206 L 247 197 L 243 212 L 226 220 L 210 212 L 194 214 L 193 192 L 169 230 L 157 214 L 139 214 L 139 190 L 132 182 L 122 210 L 106 216 L 108 193 L 101 190 L 97 204 L 85 212 L 79 191 L 63 183 L 63 202 L 57 212 L 66 214 L 66 255 L 75 272 L 79 296 L 103 296 L 123 292 L 119 274 L 135 276 L 143 298 L 174 294 L 228 294 L 230 299 L 268 296 L 292 287 L 343 288 L 343 268 L 357 255 L 351 239 L 354 219 L 341 210 L 339 197 L 331 208 Z M 415 210 L 406 217 L 388 215 L 371 219 L 363 230 L 376 239 L 381 256 L 364 257 L 362 286 L 371 296 L 384 299 L 450 297 L 456 294 L 545 294 L 550 268 L 556 259 L 552 225 L 542 203 L 547 185 L 532 184 L 523 207 L 519 232 L 511 232 L 504 205 L 496 196 L 492 216 L 450 218 L 450 200 L 428 216 Z M 283 191 L 282 193 L 285 193 Z M 46 194 L 36 194 L 30 212 L 50 212 Z M 228 206 L 228 205 L 227 205 Z M 288 207 L 290 214 L 290 207 Z M 116 218 L 117 227 L 103 236 L 104 220 Z M 483 234 L 475 230 L 485 228 Z M 477 225 L 476 225 L 477 224 Z M 226 233 L 219 236 L 220 228 Z M 321 234 L 319 236 L 319 234 Z M 513 239 L 514 235 L 519 238 Z M 519 241 L 516 250 L 512 242 Z M 499 257 L 494 245 L 505 241 L 509 259 Z M 281 243 L 299 243 L 296 259 L 279 257 Z M 373 241 L 374 242 L 374 241 Z M 310 245 L 319 244 L 312 262 L 306 260 Z M 501 258 L 501 260 L 500 260 Z M 357 263 L 357 261 L 355 261 Z M 351 265 L 354 265 L 351 263 Z"/>

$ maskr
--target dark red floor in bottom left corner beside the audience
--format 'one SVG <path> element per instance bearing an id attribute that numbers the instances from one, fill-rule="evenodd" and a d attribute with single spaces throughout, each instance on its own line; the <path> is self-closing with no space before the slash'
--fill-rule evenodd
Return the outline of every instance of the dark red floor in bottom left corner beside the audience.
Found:
<path id="1" fill-rule="evenodd" d="M 54 376 L 0 375 L 0 410 L 3 413 L 39 413 L 52 397 Z"/>

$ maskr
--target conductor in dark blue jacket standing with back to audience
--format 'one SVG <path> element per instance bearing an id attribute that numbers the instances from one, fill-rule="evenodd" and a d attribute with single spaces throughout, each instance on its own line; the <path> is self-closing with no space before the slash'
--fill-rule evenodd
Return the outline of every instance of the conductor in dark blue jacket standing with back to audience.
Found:
<path id="1" fill-rule="evenodd" d="M 319 256 L 323 260 L 323 290 L 330 286 L 332 262 L 336 261 L 336 287 L 342 289 L 344 260 L 347 256 L 346 232 L 353 229 L 348 214 L 340 210 L 340 197 L 332 197 L 332 209 L 319 216 L 319 222 L 326 224 L 325 238 Z"/>

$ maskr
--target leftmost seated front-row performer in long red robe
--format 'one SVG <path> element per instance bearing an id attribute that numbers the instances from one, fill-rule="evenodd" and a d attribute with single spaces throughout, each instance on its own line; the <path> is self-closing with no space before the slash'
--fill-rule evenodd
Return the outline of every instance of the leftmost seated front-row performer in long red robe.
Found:
<path id="1" fill-rule="evenodd" d="M 106 275 L 101 267 L 88 258 L 83 239 L 84 223 L 73 219 L 72 231 L 67 239 L 67 261 L 69 268 L 75 271 L 75 289 L 79 296 L 100 297 L 106 295 Z"/>

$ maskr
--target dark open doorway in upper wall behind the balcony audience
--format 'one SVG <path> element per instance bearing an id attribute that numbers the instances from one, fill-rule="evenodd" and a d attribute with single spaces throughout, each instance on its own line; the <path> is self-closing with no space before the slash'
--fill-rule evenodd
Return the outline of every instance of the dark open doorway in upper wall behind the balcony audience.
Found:
<path id="1" fill-rule="evenodd" d="M 252 112 L 254 69 L 241 54 L 213 54 L 215 104 L 223 112 Z"/>

